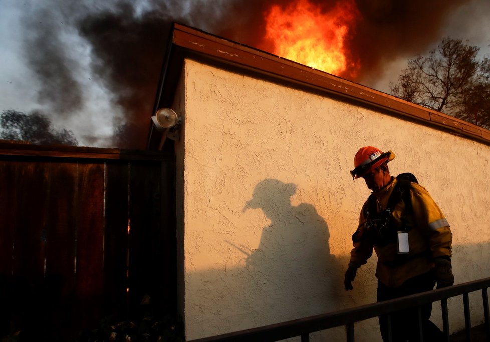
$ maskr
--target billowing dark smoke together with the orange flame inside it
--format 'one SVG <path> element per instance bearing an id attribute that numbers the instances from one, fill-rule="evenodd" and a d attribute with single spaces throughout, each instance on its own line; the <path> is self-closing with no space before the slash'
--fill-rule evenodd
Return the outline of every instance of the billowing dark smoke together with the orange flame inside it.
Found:
<path id="1" fill-rule="evenodd" d="M 379 78 L 387 62 L 424 52 L 440 39 L 447 16 L 468 2 L 114 0 L 102 5 L 50 0 L 36 5 L 36 13 L 26 13 L 25 46 L 40 81 L 39 103 L 65 118 L 71 109 L 84 107 L 87 90 L 76 75 L 84 67 L 64 42 L 67 35 L 77 38 L 74 44 L 85 42 L 90 82 L 111 93 L 121 108 L 114 118 L 126 122 L 118 127 L 121 147 L 144 148 L 173 21 L 366 83 Z"/>

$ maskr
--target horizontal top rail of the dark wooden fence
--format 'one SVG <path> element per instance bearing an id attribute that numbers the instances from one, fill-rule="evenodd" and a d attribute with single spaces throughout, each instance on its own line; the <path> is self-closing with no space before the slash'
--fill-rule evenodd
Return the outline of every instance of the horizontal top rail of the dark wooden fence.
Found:
<path id="1" fill-rule="evenodd" d="M 162 151 L 121 150 L 116 148 L 78 147 L 66 145 L 31 145 L 0 141 L 0 157 L 76 158 L 113 160 L 171 160 Z"/>

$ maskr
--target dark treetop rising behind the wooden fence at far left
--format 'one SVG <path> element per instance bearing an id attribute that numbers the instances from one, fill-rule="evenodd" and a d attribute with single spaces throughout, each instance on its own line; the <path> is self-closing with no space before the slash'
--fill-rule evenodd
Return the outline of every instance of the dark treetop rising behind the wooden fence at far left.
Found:
<path id="1" fill-rule="evenodd" d="M 13 109 L 0 114 L 0 139 L 27 141 L 34 145 L 78 145 L 72 131 L 52 126 L 51 120 L 39 111 L 31 114 Z"/>

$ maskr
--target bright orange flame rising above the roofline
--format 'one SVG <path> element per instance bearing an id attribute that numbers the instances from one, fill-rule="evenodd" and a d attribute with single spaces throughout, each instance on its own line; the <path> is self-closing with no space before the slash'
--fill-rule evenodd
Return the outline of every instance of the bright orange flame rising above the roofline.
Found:
<path id="1" fill-rule="evenodd" d="M 276 55 L 335 75 L 355 77 L 359 63 L 347 60 L 344 41 L 357 15 L 353 0 L 340 1 L 325 13 L 308 0 L 293 1 L 284 9 L 273 5 L 265 14 L 265 38 L 273 42 Z"/>

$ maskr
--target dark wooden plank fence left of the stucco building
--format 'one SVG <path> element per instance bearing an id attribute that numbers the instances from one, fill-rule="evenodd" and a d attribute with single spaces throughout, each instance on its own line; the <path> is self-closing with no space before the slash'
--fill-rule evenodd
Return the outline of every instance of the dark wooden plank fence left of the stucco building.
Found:
<path id="1" fill-rule="evenodd" d="M 73 340 L 138 315 L 145 295 L 173 315 L 174 166 L 161 153 L 0 144 L 0 338 Z"/>

